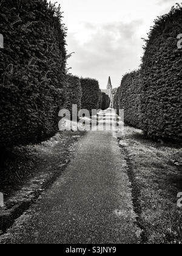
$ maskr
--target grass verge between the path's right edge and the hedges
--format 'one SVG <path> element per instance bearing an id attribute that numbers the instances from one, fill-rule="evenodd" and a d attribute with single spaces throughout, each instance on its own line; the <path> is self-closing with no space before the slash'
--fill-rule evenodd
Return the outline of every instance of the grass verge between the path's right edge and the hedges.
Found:
<path id="1" fill-rule="evenodd" d="M 133 204 L 136 213 L 138 207 L 146 243 L 182 243 L 182 208 L 177 206 L 177 194 L 182 192 L 182 169 L 177 164 L 182 160 L 181 145 L 146 140 L 141 130 L 132 127 L 125 127 L 119 143 L 140 191 L 138 206 Z"/>

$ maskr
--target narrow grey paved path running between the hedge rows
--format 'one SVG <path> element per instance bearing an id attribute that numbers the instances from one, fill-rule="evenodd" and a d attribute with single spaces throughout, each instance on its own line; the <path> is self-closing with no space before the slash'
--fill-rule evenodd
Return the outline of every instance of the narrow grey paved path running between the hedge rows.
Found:
<path id="1" fill-rule="evenodd" d="M 64 174 L 0 241 L 109 244 L 139 240 L 126 162 L 113 132 L 103 131 L 88 132 L 78 142 Z"/>

